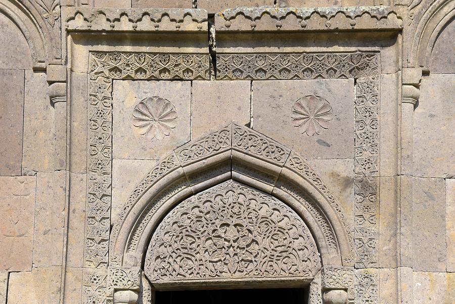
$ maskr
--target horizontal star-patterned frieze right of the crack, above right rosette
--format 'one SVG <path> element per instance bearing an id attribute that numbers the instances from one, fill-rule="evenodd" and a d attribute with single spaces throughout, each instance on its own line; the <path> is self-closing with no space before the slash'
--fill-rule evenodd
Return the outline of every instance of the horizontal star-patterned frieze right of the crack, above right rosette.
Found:
<path id="1" fill-rule="evenodd" d="M 379 74 L 378 53 L 218 54 L 216 78 L 316 79 L 358 78 Z"/>

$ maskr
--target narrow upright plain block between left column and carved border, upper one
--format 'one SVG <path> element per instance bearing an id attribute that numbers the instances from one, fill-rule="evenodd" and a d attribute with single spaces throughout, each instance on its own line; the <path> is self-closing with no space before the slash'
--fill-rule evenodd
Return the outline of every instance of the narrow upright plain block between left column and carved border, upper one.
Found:
<path id="1" fill-rule="evenodd" d="M 71 72 L 70 171 L 84 173 L 87 170 L 87 74 Z"/>

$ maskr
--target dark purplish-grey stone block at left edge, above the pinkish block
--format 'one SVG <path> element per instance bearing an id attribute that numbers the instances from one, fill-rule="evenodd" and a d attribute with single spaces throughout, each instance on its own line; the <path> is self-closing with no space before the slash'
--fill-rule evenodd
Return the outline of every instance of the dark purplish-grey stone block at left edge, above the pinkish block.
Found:
<path id="1" fill-rule="evenodd" d="M 24 77 L 21 70 L 0 70 L 0 176 L 21 175 Z"/>

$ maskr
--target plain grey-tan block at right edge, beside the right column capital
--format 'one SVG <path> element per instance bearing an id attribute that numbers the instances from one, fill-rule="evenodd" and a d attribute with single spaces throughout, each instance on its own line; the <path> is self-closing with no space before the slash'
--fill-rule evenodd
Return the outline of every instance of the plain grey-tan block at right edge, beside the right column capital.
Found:
<path id="1" fill-rule="evenodd" d="M 455 74 L 422 79 L 414 111 L 414 173 L 421 177 L 455 176 Z"/>

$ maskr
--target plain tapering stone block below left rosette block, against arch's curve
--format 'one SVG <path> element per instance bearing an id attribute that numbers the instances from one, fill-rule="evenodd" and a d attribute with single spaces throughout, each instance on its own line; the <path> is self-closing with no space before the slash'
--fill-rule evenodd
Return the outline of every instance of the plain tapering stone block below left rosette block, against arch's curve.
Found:
<path id="1" fill-rule="evenodd" d="M 111 223 L 117 221 L 118 214 L 129 195 L 155 166 L 156 162 L 156 160 L 138 159 L 114 159 L 112 161 Z"/>

